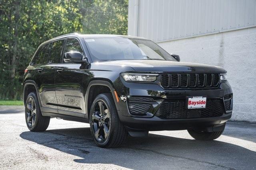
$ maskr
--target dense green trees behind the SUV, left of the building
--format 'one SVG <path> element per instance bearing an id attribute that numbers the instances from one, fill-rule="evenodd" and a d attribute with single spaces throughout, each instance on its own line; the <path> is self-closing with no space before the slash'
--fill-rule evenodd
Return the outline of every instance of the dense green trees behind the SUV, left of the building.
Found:
<path id="1" fill-rule="evenodd" d="M 40 43 L 66 33 L 127 34 L 128 0 L 1 0 L 0 99 L 20 100 Z"/>

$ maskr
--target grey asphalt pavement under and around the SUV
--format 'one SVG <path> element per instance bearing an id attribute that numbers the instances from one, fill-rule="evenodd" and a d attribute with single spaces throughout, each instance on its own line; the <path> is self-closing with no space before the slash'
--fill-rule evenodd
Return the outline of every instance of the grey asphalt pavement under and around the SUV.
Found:
<path id="1" fill-rule="evenodd" d="M 214 141 L 187 131 L 128 137 L 120 148 L 96 147 L 89 124 L 52 118 L 30 132 L 23 107 L 0 106 L 0 169 L 256 169 L 256 124 L 228 121 Z"/>

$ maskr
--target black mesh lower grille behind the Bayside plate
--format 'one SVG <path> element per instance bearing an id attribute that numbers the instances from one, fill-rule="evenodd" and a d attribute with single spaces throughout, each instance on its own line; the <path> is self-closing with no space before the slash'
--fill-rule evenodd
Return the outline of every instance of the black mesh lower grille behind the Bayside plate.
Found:
<path id="1" fill-rule="evenodd" d="M 161 119 L 217 117 L 225 113 L 222 99 L 207 99 L 204 109 L 187 109 L 185 100 L 164 100 L 156 116 Z"/>

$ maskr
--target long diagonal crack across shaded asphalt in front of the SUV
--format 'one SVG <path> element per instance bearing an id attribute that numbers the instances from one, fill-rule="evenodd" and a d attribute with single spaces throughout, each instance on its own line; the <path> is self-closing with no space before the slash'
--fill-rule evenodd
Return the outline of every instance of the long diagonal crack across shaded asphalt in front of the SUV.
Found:
<path id="1" fill-rule="evenodd" d="M 150 150 L 150 149 L 140 149 L 140 148 L 133 148 L 133 147 L 124 147 L 124 148 L 141 150 L 141 151 L 148 151 L 148 152 L 153 152 L 155 154 L 159 154 L 159 155 L 162 155 L 162 156 L 170 156 L 170 157 L 173 157 L 173 158 L 182 158 L 182 159 L 191 160 L 191 161 L 194 161 L 194 162 L 206 163 L 206 164 L 218 166 L 218 167 L 221 167 L 221 168 L 226 168 L 226 169 L 229 169 L 229 170 L 235 170 L 234 168 L 230 168 L 228 166 L 223 166 L 223 165 L 219 165 L 219 164 L 214 164 L 212 162 L 201 161 L 201 160 L 197 160 L 197 159 L 193 159 L 193 158 L 187 158 L 187 157 L 184 157 L 184 156 L 176 156 L 176 155 L 166 154 L 166 153 L 163 153 L 163 152 Z"/>

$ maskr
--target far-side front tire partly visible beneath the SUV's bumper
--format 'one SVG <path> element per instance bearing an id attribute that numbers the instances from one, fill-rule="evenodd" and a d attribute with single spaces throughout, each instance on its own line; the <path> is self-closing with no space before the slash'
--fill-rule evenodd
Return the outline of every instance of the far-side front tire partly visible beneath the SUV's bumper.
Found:
<path id="1" fill-rule="evenodd" d="M 190 134 L 191 137 L 193 137 L 196 140 L 200 140 L 200 141 L 212 141 L 214 139 L 217 139 L 218 137 L 220 137 L 220 135 L 222 134 L 224 130 L 222 131 L 216 131 L 216 132 L 199 132 L 199 131 L 195 131 L 193 129 L 189 129 L 188 133 Z"/>

